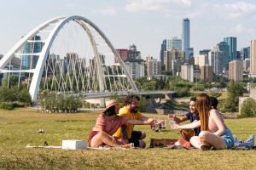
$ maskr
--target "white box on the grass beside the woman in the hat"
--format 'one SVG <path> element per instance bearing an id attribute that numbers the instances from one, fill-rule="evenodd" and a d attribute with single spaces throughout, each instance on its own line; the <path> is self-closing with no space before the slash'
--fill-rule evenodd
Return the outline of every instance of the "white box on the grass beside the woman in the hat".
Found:
<path id="1" fill-rule="evenodd" d="M 87 143 L 84 140 L 62 140 L 63 150 L 86 150 Z"/>

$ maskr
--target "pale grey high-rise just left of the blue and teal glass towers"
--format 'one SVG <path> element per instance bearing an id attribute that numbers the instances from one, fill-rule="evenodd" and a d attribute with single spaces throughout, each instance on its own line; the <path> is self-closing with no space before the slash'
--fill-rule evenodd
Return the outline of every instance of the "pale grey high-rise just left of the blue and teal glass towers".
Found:
<path id="1" fill-rule="evenodd" d="M 222 75 L 222 56 L 223 52 L 219 51 L 218 46 L 213 46 L 208 54 L 209 65 L 212 65 L 213 72 L 216 75 Z"/>

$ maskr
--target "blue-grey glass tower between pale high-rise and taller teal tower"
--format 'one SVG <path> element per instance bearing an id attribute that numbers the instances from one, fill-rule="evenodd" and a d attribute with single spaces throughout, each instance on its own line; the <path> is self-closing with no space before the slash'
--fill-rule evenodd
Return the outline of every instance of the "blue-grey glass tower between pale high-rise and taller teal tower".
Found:
<path id="1" fill-rule="evenodd" d="M 222 67 L 227 70 L 230 62 L 230 45 L 227 42 L 219 42 L 217 46 L 219 51 L 223 52 Z"/>

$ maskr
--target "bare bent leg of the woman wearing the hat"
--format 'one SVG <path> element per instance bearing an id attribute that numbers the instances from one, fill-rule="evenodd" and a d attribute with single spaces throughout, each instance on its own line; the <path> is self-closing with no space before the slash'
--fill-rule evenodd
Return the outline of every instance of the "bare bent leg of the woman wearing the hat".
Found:
<path id="1" fill-rule="evenodd" d="M 91 147 L 99 147 L 101 144 L 108 144 L 110 146 L 120 146 L 125 148 L 131 148 L 131 144 L 117 144 L 113 136 L 110 136 L 108 133 L 99 132 L 91 140 Z"/>

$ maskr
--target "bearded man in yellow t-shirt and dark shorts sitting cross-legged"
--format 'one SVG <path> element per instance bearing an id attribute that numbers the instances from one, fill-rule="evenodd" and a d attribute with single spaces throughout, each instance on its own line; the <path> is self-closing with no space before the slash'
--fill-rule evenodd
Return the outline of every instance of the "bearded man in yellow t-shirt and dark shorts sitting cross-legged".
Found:
<path id="1" fill-rule="evenodd" d="M 125 99 L 125 106 L 119 110 L 119 116 L 126 116 L 131 120 L 142 120 L 153 123 L 154 119 L 143 116 L 138 112 L 138 102 L 140 98 L 137 95 L 128 95 Z M 129 124 L 117 130 L 113 136 L 128 139 L 129 143 L 133 143 L 135 147 L 145 148 L 146 144 L 143 139 L 146 138 L 146 133 L 143 131 L 134 131 L 134 125 Z"/>

